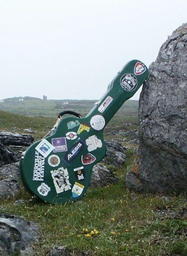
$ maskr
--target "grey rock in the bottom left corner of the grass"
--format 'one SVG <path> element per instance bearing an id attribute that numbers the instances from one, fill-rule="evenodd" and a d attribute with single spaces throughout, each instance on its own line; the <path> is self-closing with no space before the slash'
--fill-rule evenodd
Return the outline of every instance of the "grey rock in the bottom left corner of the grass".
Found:
<path id="1" fill-rule="evenodd" d="M 33 255 L 31 244 L 39 238 L 39 226 L 34 222 L 16 215 L 0 214 L 0 255 Z"/>

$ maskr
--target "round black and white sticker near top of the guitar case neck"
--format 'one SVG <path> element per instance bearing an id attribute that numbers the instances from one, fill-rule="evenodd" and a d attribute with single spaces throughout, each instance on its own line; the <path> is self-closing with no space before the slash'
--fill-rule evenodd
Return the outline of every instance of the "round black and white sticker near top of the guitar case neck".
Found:
<path id="1" fill-rule="evenodd" d="M 134 91 L 138 85 L 138 81 L 134 75 L 125 74 L 121 77 L 120 84 L 126 91 Z"/>

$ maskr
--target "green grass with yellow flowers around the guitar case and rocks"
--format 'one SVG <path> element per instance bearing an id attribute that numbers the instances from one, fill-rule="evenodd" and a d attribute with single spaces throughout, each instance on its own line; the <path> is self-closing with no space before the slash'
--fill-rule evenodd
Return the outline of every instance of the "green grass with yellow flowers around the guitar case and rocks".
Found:
<path id="1" fill-rule="evenodd" d="M 23 132 L 31 127 L 36 131 L 35 139 L 47 133 L 56 120 L 3 111 L 0 118 L 1 130 L 13 131 L 15 126 Z M 44 256 L 56 245 L 65 246 L 74 255 L 82 251 L 90 255 L 187 255 L 187 217 L 178 214 L 187 209 L 185 195 L 169 195 L 165 200 L 163 195 L 128 191 L 125 176 L 133 162 L 133 147 L 128 144 L 126 162 L 116 170 L 117 184 L 88 189 L 81 201 L 66 205 L 29 201 L 32 196 L 21 185 L 16 198 L 0 202 L 0 212 L 21 215 L 40 225 L 41 240 L 33 245 L 34 255 Z M 17 199 L 26 202 L 14 206 Z M 169 209 L 177 213 L 173 219 L 167 215 L 161 218 L 159 211 Z"/>

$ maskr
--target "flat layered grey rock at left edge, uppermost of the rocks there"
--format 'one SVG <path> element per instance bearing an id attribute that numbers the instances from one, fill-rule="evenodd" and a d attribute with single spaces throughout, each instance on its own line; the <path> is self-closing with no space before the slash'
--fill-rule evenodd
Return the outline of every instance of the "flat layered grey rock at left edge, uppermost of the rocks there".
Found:
<path id="1" fill-rule="evenodd" d="M 3 145 L 14 145 L 14 146 L 30 146 L 34 138 L 29 134 L 18 134 L 18 133 L 0 133 L 0 142 Z"/>

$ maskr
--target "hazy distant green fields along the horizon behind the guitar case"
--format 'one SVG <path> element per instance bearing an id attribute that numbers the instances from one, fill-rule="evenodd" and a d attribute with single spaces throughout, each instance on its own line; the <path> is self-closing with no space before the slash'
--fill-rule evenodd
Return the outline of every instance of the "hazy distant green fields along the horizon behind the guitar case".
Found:
<path id="1" fill-rule="evenodd" d="M 98 100 L 47 100 L 24 97 L 5 99 L 0 102 L 0 110 L 20 114 L 23 116 L 43 116 L 57 118 L 59 112 L 72 110 L 80 113 L 83 117 L 94 107 Z M 68 102 L 68 104 L 64 104 Z M 118 127 L 125 122 L 138 125 L 138 101 L 128 100 L 110 120 L 107 127 Z"/>

